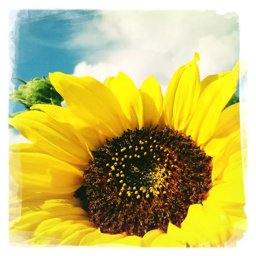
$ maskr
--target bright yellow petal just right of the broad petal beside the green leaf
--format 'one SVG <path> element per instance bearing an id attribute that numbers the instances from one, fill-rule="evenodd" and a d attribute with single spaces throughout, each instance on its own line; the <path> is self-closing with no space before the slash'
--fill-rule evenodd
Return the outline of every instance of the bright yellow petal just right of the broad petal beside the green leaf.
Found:
<path id="1" fill-rule="evenodd" d="M 135 130 L 136 127 L 143 127 L 143 104 L 139 90 L 131 78 L 119 72 L 117 77 L 108 78 L 105 84 L 119 100 L 129 122 L 126 128 Z"/>

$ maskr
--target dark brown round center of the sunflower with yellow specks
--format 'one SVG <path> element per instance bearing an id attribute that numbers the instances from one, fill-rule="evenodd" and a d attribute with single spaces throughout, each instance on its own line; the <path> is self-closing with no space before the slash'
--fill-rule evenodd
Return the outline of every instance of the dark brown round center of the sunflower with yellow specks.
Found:
<path id="1" fill-rule="evenodd" d="M 103 233 L 143 236 L 166 231 L 169 222 L 180 227 L 210 189 L 212 157 L 167 126 L 128 129 L 93 154 L 76 197 Z"/>

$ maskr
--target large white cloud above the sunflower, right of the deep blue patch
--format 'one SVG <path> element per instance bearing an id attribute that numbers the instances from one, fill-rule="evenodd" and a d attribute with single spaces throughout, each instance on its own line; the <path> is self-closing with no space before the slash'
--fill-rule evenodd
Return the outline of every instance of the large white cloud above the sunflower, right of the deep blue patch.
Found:
<path id="1" fill-rule="evenodd" d="M 227 15 L 226 15 L 227 16 Z M 76 31 L 68 47 L 86 49 L 75 76 L 103 82 L 119 71 L 140 87 L 154 74 L 163 93 L 175 70 L 199 52 L 201 79 L 239 59 L 238 17 L 210 11 L 105 11 Z"/>

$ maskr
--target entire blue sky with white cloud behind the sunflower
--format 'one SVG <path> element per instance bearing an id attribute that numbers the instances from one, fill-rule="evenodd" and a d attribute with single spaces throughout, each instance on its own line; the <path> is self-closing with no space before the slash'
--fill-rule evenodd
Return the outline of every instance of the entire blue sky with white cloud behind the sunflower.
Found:
<path id="1" fill-rule="evenodd" d="M 215 11 L 22 10 L 11 41 L 13 77 L 63 72 L 104 81 L 126 73 L 140 87 L 154 74 L 163 94 L 175 70 L 199 52 L 201 80 L 239 59 L 239 17 Z M 10 88 L 21 83 L 12 79 Z M 25 110 L 10 101 L 10 113 Z"/>

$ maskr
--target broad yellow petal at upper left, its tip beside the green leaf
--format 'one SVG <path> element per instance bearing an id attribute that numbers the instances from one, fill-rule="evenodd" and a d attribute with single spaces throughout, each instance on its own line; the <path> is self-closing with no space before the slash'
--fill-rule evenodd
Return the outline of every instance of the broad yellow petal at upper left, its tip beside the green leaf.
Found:
<path id="1" fill-rule="evenodd" d="M 121 106 L 111 90 L 92 77 L 49 73 L 49 79 L 76 116 L 108 137 L 120 136 L 126 129 Z"/>

